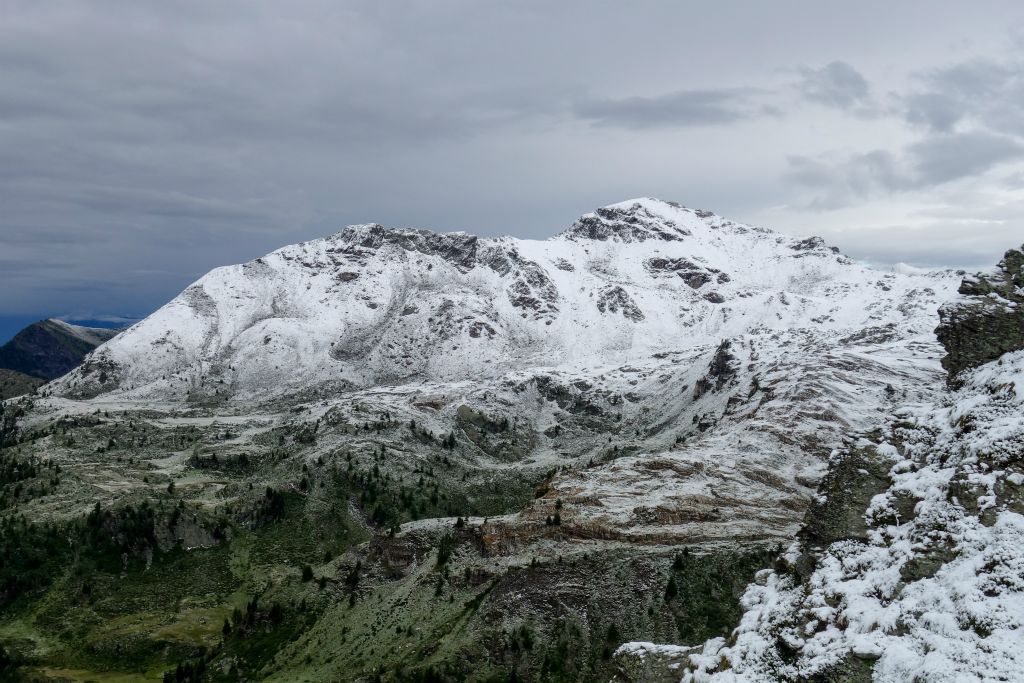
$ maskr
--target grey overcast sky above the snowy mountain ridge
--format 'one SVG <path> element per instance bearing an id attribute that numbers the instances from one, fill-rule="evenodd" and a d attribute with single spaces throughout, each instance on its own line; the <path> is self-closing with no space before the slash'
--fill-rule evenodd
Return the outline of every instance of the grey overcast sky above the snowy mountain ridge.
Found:
<path id="1" fill-rule="evenodd" d="M 1019 2 L 0 0 L 0 316 L 639 196 L 990 264 L 1024 242 L 1022 48 Z"/>

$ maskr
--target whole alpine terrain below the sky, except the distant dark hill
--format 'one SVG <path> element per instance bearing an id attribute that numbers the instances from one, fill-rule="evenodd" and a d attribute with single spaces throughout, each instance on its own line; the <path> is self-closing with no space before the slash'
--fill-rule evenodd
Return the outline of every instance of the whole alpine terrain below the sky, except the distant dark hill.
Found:
<path id="1" fill-rule="evenodd" d="M 217 268 L 0 403 L 0 676 L 1014 680 L 1022 304 L 652 199 Z"/>

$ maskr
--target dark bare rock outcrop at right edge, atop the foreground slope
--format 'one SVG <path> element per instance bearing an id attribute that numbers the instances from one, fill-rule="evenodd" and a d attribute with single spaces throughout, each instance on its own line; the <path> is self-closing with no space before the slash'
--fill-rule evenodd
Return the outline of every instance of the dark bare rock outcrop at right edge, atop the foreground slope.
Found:
<path id="1" fill-rule="evenodd" d="M 1024 247 L 1011 249 L 998 266 L 967 278 L 963 298 L 940 311 L 935 331 L 948 355 L 942 366 L 950 380 L 965 370 L 1024 348 Z"/>

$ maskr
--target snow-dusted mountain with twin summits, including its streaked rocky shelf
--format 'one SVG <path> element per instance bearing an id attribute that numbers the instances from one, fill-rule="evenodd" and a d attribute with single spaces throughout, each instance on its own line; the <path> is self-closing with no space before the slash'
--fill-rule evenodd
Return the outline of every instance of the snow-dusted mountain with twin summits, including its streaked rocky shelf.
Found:
<path id="1" fill-rule="evenodd" d="M 944 387 L 959 281 L 652 199 L 544 241 L 358 225 L 211 271 L 44 391 L 509 422 L 477 466 L 591 465 L 509 538 L 562 499 L 581 533 L 788 541 L 833 449 Z"/>

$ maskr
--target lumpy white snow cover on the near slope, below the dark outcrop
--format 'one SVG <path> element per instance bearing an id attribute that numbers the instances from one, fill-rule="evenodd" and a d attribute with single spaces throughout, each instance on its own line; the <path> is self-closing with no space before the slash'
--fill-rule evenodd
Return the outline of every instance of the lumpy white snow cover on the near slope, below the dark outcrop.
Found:
<path id="1" fill-rule="evenodd" d="M 1022 351 L 972 371 L 949 397 L 904 407 L 898 428 L 858 444 L 892 477 L 870 501 L 866 537 L 830 544 L 803 581 L 795 545 L 788 570 L 765 570 L 746 591 L 731 642 L 694 650 L 683 680 L 840 669 L 894 683 L 1021 680 L 1022 407 Z"/>

